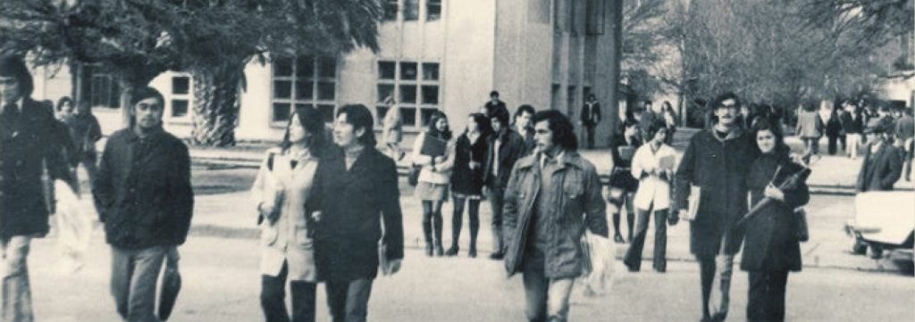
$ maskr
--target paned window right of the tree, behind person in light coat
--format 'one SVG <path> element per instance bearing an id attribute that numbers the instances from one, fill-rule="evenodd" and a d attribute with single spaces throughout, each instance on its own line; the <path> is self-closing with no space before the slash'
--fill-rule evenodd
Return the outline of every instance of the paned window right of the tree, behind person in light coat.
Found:
<path id="1" fill-rule="evenodd" d="M 438 109 L 438 72 L 438 63 L 379 61 L 377 119 L 387 113 L 384 99 L 393 97 L 398 98 L 404 126 L 425 126 L 429 116 Z"/>

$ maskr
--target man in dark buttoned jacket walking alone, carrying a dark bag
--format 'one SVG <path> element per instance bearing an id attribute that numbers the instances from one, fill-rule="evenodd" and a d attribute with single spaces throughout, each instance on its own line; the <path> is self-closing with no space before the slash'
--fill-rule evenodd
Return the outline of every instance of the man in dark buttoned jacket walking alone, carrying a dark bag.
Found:
<path id="1" fill-rule="evenodd" d="M 162 129 L 164 107 L 155 88 L 133 91 L 130 126 L 109 137 L 92 183 L 112 245 L 112 295 L 128 321 L 158 321 L 159 271 L 188 238 L 194 211 L 188 147 Z"/>

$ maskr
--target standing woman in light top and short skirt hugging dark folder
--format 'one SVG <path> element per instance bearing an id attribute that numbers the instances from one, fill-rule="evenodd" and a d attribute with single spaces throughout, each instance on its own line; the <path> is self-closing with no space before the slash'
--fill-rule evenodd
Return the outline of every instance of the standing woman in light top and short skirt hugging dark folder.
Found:
<path id="1" fill-rule="evenodd" d="M 448 182 L 454 165 L 455 144 L 448 119 L 436 112 L 429 118 L 429 129 L 418 136 L 413 147 L 413 163 L 422 167 L 416 183 L 416 198 L 423 203 L 425 254 L 444 254 L 442 248 L 442 203 L 448 195 Z M 430 142 L 425 142 L 430 140 Z M 436 141 L 432 141 L 436 140 Z M 424 148 L 425 151 L 424 151 Z M 432 153 L 432 154 L 425 154 Z"/>

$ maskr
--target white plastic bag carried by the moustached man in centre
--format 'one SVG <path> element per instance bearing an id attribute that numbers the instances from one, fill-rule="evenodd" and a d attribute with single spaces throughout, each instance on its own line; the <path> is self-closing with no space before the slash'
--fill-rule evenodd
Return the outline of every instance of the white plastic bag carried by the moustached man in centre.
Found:
<path id="1" fill-rule="evenodd" d="M 580 282 L 585 286 L 585 295 L 601 296 L 610 293 L 615 275 L 615 245 L 606 237 L 586 232 L 582 239 L 582 252 L 585 254 L 586 274 L 582 275 Z"/>

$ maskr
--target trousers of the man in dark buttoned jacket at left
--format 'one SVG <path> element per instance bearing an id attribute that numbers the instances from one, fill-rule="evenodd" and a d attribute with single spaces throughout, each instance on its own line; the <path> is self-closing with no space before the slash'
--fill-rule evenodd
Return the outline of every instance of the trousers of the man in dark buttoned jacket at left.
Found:
<path id="1" fill-rule="evenodd" d="M 158 322 L 156 284 L 167 246 L 128 250 L 112 247 L 112 295 L 117 313 L 129 322 Z"/>

